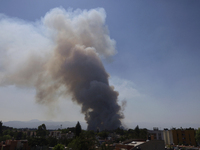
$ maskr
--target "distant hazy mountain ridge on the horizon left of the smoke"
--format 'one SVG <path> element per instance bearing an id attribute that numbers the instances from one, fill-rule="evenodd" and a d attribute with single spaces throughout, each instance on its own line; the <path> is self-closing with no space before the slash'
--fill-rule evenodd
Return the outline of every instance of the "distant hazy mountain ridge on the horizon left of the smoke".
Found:
<path id="1" fill-rule="evenodd" d="M 38 128 L 39 125 L 45 124 L 47 129 L 58 129 L 61 128 L 68 128 L 68 127 L 75 127 L 76 126 L 75 121 L 40 121 L 38 119 L 33 119 L 30 121 L 7 121 L 3 122 L 3 125 L 13 127 L 13 128 Z M 87 124 L 85 122 L 80 122 L 82 129 L 87 129 Z"/>

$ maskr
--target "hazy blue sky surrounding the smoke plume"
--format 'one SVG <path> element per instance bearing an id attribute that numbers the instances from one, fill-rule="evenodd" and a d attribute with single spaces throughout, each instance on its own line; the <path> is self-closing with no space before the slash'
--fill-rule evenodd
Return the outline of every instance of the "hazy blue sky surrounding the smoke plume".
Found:
<path id="1" fill-rule="evenodd" d="M 200 127 L 199 1 L 0 0 L 0 19 L 7 18 L 10 23 L 0 31 L 0 77 L 5 53 L 2 45 L 12 45 L 10 37 L 15 37 L 16 43 L 25 41 L 27 52 L 31 51 L 30 39 L 23 36 L 24 32 L 32 38 L 33 47 L 49 44 L 37 35 L 40 29 L 35 26 L 53 8 L 105 11 L 105 26 L 116 42 L 116 53 L 102 61 L 110 85 L 119 92 L 118 103 L 127 102 L 124 126 Z M 29 26 L 17 28 L 15 22 Z M 3 23 L 0 21 L 0 26 Z M 70 95 L 49 109 L 36 103 L 35 94 L 33 87 L 1 84 L 0 119 L 84 122 L 80 106 L 70 100 Z"/>

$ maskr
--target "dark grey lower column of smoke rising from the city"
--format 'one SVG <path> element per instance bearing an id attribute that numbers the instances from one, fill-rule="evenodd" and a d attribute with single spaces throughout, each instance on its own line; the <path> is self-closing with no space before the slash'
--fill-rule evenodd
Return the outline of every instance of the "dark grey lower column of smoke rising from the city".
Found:
<path id="1" fill-rule="evenodd" d="M 94 49 L 80 46 L 65 49 L 62 45 L 56 51 L 63 50 L 68 52 L 66 56 L 57 53 L 56 58 L 64 61 L 55 76 L 65 84 L 72 100 L 81 105 L 88 130 L 120 127 L 123 115 L 117 104 L 118 92 L 109 86 L 109 75 Z"/>

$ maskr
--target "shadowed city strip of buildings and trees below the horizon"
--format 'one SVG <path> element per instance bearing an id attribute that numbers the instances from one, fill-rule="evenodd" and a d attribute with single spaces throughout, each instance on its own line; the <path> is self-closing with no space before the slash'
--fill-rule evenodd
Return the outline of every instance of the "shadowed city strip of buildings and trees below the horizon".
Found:
<path id="1" fill-rule="evenodd" d="M 48 130 L 42 124 L 37 128 L 13 128 L 0 122 L 1 150 L 199 150 L 200 128 L 146 128 L 83 130 L 75 127 Z"/>

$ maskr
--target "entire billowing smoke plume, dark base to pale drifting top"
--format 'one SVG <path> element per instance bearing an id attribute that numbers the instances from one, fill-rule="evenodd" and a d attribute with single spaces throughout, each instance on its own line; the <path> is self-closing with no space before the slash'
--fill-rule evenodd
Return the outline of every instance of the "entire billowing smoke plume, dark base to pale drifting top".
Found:
<path id="1" fill-rule="evenodd" d="M 118 92 L 109 85 L 101 59 L 115 54 L 104 9 L 55 8 L 40 21 L 0 16 L 0 84 L 34 87 L 48 105 L 71 95 L 89 130 L 121 126 Z"/>

